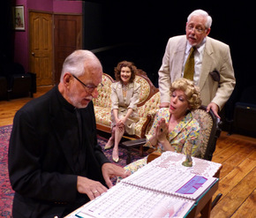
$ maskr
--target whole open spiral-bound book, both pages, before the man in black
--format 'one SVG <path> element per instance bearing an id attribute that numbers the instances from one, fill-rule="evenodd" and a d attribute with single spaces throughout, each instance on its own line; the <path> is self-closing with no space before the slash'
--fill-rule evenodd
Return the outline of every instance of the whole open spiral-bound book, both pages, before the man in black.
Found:
<path id="1" fill-rule="evenodd" d="M 75 217 L 185 217 L 218 181 L 189 169 L 164 168 L 159 162 L 150 162 L 124 178 L 80 207 Z"/>

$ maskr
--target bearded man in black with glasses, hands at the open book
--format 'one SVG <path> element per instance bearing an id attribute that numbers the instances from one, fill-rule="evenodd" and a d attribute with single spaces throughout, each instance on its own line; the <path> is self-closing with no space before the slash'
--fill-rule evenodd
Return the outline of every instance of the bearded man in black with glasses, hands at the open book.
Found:
<path id="1" fill-rule="evenodd" d="M 102 64 L 76 50 L 60 83 L 28 102 L 14 117 L 9 147 L 13 217 L 63 217 L 126 177 L 97 144 L 94 106 Z"/>

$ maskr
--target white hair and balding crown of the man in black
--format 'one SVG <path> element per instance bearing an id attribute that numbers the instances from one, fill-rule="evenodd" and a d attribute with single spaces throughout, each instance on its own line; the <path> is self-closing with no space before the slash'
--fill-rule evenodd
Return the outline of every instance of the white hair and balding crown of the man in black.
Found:
<path id="1" fill-rule="evenodd" d="M 65 58 L 60 80 L 63 81 L 64 73 L 67 71 L 76 77 L 82 76 L 85 73 L 87 62 L 99 64 L 102 67 L 101 62 L 93 52 L 82 49 L 75 50 L 70 56 Z"/>

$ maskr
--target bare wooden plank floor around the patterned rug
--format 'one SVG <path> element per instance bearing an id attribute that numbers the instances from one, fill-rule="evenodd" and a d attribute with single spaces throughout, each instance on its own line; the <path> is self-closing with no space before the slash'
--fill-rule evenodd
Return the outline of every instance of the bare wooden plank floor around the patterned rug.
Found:
<path id="1" fill-rule="evenodd" d="M 51 87 L 38 87 L 34 98 Z M 13 116 L 31 98 L 0 101 L 0 126 L 12 124 Z M 219 189 L 222 199 L 211 212 L 211 218 L 256 218 L 256 139 L 222 132 L 217 141 L 213 162 L 222 163 Z M 215 198 L 215 196 L 214 196 Z"/>

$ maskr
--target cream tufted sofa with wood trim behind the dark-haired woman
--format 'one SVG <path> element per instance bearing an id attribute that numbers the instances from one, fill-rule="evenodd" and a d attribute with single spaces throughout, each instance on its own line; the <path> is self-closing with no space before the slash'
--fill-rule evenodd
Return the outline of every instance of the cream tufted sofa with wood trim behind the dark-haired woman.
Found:
<path id="1" fill-rule="evenodd" d="M 139 122 L 135 126 L 134 138 L 144 138 L 147 130 L 147 124 L 149 124 L 153 113 L 151 110 L 159 108 L 160 94 L 158 89 L 154 87 L 150 79 L 147 78 L 146 73 L 138 74 L 135 77 L 135 81 L 140 84 L 139 94 Z M 108 74 L 103 73 L 102 87 L 99 87 L 98 98 L 94 99 L 94 112 L 96 117 L 97 129 L 103 132 L 110 132 L 111 126 L 111 87 L 110 85 L 115 82 Z M 150 112 L 151 111 L 151 112 Z M 154 117 L 153 117 L 154 118 Z"/>

